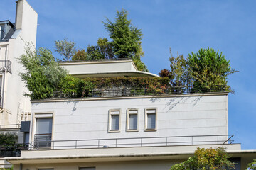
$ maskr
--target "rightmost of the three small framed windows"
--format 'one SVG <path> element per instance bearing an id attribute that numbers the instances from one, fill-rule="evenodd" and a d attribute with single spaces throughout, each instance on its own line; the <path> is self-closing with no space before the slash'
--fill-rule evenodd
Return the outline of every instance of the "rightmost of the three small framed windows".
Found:
<path id="1" fill-rule="evenodd" d="M 145 130 L 156 130 L 156 108 L 145 109 Z"/>

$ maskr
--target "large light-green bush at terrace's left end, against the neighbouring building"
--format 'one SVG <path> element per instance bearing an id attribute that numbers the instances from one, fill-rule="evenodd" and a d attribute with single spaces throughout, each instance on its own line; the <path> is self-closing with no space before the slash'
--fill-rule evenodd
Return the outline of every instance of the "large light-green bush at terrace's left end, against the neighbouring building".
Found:
<path id="1" fill-rule="evenodd" d="M 25 81 L 31 99 L 49 98 L 53 91 L 58 91 L 60 81 L 67 75 L 67 71 L 58 66 L 50 50 L 27 45 L 25 54 L 18 59 L 25 71 L 20 73 L 21 79 Z"/>

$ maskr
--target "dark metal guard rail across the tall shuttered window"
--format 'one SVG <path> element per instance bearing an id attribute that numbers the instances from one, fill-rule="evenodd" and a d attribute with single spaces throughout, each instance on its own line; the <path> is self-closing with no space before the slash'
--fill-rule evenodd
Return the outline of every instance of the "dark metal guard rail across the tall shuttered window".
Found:
<path id="1" fill-rule="evenodd" d="M 51 146 L 51 133 L 35 134 L 34 135 L 34 146 L 35 147 L 50 147 Z"/>

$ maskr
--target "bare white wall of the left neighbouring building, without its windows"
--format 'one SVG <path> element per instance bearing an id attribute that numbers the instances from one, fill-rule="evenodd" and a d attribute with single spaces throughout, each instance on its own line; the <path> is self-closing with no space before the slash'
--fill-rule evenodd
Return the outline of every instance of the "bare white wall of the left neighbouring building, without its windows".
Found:
<path id="1" fill-rule="evenodd" d="M 23 68 L 17 58 L 24 53 L 25 42 L 31 42 L 36 46 L 37 17 L 36 11 L 26 0 L 18 1 L 16 21 L 18 36 L 10 39 L 9 42 L 0 42 L 0 47 L 6 47 L 5 56 L 2 56 L 4 52 L 1 52 L 1 59 L 6 58 L 11 61 L 11 73 L 2 73 L 3 77 L 6 76 L 6 81 L 2 98 L 4 108 L 0 114 L 1 125 L 19 123 L 21 112 L 31 111 L 30 99 L 23 96 L 27 89 L 18 76 Z"/>

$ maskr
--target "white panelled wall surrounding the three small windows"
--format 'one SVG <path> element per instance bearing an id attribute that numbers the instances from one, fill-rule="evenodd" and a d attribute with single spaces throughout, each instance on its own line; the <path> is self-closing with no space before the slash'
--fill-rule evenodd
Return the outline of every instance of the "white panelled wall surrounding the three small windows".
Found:
<path id="1" fill-rule="evenodd" d="M 228 132 L 227 100 L 227 94 L 210 96 L 202 94 L 33 102 L 34 125 L 31 126 L 31 132 L 35 133 L 35 114 L 53 113 L 53 140 L 226 135 Z M 127 109 L 130 108 L 139 110 L 137 132 L 126 131 Z M 157 108 L 156 131 L 144 131 L 145 108 Z M 120 132 L 108 132 L 110 109 L 121 111 Z M 191 138 L 183 140 L 191 140 Z M 33 135 L 31 135 L 31 141 L 33 141 Z"/>

